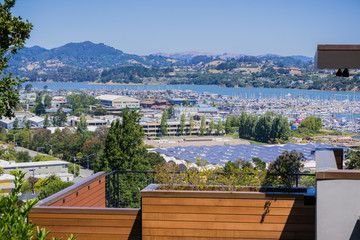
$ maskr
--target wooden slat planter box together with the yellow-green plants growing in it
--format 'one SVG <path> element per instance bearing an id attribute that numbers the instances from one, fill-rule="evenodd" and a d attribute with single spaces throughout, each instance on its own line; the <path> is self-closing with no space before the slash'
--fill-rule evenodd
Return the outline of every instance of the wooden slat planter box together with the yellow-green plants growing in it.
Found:
<path id="1" fill-rule="evenodd" d="M 143 237 L 314 239 L 313 189 L 286 187 L 291 179 L 274 177 L 272 166 L 238 166 L 159 167 L 160 184 L 141 191 Z"/>

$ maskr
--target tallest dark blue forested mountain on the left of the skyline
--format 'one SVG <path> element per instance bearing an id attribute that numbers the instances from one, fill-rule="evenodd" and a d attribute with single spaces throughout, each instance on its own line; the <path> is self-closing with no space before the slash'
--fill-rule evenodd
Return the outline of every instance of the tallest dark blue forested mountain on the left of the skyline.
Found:
<path id="1" fill-rule="evenodd" d="M 47 73 L 60 67 L 102 70 L 119 66 L 173 66 L 182 64 L 180 60 L 163 56 L 138 56 L 127 54 L 103 43 L 89 41 L 68 43 L 47 50 L 39 46 L 24 48 L 9 61 L 8 71 L 15 75 L 27 76 L 30 72 Z"/>

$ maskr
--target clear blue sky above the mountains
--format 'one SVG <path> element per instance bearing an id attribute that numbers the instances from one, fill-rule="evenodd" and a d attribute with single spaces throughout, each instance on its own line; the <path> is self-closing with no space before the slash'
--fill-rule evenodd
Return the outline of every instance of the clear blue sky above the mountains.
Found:
<path id="1" fill-rule="evenodd" d="M 104 43 L 126 53 L 183 51 L 314 56 L 360 43 L 359 0 L 18 0 L 27 46 Z"/>

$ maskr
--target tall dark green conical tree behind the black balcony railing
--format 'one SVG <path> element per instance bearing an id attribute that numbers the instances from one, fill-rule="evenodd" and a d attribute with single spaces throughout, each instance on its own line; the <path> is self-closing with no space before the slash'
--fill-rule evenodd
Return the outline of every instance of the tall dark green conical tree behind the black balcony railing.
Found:
<path id="1" fill-rule="evenodd" d="M 111 123 L 100 163 L 102 170 L 109 172 L 149 169 L 149 164 L 144 159 L 146 149 L 142 141 L 144 131 L 140 118 L 141 115 L 136 109 L 126 108 L 122 113 L 122 122 L 117 119 Z"/>

